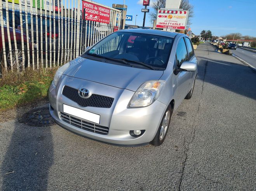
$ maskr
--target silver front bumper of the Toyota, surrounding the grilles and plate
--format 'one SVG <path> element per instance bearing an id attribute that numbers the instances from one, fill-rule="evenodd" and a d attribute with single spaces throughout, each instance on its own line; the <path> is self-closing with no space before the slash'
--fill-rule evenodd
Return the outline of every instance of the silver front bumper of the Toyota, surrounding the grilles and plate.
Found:
<path id="1" fill-rule="evenodd" d="M 62 95 L 64 85 L 72 86 L 76 89 L 81 86 L 86 87 L 92 93 L 114 97 L 114 102 L 110 108 L 79 106 L 76 102 Z M 130 90 L 64 76 L 62 81 L 57 84 L 57 87 L 51 85 L 49 88 L 50 113 L 60 126 L 94 140 L 117 145 L 149 143 L 153 140 L 158 130 L 167 106 L 160 101 L 155 101 L 148 107 L 127 108 L 133 94 L 134 92 Z M 108 127 L 108 134 L 101 135 L 67 123 L 60 116 L 60 113 L 63 112 L 63 104 L 99 114 L 101 116 L 99 125 Z M 130 135 L 130 130 L 145 130 L 145 132 L 139 137 L 134 137 Z"/>

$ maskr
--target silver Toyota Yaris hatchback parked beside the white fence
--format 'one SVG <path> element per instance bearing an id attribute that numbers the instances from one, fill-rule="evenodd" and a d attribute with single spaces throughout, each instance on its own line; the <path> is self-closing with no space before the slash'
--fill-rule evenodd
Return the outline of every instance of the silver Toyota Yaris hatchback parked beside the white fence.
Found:
<path id="1" fill-rule="evenodd" d="M 159 146 L 173 111 L 192 96 L 196 76 L 186 35 L 120 30 L 57 70 L 50 113 L 60 126 L 92 139 Z"/>

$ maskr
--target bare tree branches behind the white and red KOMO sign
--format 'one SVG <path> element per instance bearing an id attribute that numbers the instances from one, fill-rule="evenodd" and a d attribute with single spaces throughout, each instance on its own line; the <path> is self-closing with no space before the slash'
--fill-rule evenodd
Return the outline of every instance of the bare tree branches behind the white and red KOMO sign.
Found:
<path id="1" fill-rule="evenodd" d="M 157 19 L 157 10 L 161 8 L 165 8 L 165 2 L 166 0 L 153 0 L 152 7 L 154 9 L 154 12 L 150 13 L 151 20 Z M 191 25 L 191 18 L 193 17 L 193 9 L 194 6 L 189 3 L 189 0 L 181 0 L 181 4 L 179 6 L 179 9 L 188 10 L 188 22 L 187 25 Z"/>

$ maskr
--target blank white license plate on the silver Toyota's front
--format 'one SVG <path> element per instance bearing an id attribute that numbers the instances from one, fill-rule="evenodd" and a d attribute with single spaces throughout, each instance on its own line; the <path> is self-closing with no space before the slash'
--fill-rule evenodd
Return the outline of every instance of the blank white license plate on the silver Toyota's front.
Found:
<path id="1" fill-rule="evenodd" d="M 63 104 L 63 112 L 99 124 L 100 115 Z"/>

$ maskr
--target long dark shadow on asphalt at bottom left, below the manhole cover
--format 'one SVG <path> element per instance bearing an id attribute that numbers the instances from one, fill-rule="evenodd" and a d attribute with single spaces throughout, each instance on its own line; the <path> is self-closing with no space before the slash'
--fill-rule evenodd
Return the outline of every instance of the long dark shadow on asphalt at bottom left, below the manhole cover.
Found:
<path id="1" fill-rule="evenodd" d="M 46 190 L 54 159 L 51 126 L 27 126 L 17 119 L 11 124 L 14 130 L 2 161 L 0 190 Z"/>

